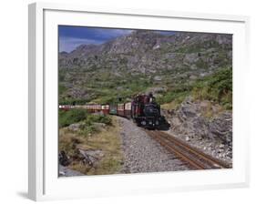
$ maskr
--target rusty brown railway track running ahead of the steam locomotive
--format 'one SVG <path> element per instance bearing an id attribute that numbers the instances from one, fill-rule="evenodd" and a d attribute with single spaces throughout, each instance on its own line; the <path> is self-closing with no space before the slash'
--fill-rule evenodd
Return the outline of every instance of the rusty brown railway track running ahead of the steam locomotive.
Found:
<path id="1" fill-rule="evenodd" d="M 193 169 L 212 169 L 212 168 L 230 168 L 230 165 L 220 161 L 217 158 L 212 158 L 200 151 L 197 148 L 189 146 L 179 138 L 170 136 L 167 133 L 157 130 L 145 130 L 148 136 L 156 139 L 160 145 L 166 148 L 169 152 L 174 153 L 190 168 Z"/>

